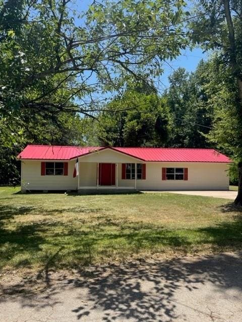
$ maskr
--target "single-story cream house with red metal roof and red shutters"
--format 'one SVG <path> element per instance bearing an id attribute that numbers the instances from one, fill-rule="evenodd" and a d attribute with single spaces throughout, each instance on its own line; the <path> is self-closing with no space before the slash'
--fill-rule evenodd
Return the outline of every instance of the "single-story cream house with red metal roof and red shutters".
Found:
<path id="1" fill-rule="evenodd" d="M 228 190 L 231 160 L 214 149 L 27 145 L 21 189 Z"/>

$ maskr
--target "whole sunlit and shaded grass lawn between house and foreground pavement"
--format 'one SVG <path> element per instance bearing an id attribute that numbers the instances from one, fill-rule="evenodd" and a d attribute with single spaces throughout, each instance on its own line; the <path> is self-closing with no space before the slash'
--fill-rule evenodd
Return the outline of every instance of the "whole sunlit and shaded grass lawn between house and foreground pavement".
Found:
<path id="1" fill-rule="evenodd" d="M 44 269 L 208 254 L 242 245 L 231 201 L 168 193 L 20 194 L 0 188 L 0 268 Z"/>

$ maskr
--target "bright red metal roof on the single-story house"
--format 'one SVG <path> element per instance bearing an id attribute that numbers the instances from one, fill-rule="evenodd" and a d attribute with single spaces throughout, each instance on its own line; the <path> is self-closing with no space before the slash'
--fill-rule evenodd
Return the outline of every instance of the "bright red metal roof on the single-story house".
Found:
<path id="1" fill-rule="evenodd" d="M 20 159 L 70 160 L 106 147 L 57 145 L 27 145 L 18 155 Z M 224 154 L 214 149 L 163 148 L 163 147 L 112 147 L 143 161 L 153 162 L 218 162 L 231 163 Z"/>

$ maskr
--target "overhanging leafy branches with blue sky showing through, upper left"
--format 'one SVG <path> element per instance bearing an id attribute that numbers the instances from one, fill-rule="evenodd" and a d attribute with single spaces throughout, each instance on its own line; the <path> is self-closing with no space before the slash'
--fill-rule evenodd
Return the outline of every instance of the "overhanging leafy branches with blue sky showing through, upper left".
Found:
<path id="1" fill-rule="evenodd" d="M 94 93 L 159 74 L 188 44 L 182 0 L 93 1 L 83 14 L 74 3 L 1 1 L 2 113 L 24 107 L 92 115 L 100 108 Z"/>

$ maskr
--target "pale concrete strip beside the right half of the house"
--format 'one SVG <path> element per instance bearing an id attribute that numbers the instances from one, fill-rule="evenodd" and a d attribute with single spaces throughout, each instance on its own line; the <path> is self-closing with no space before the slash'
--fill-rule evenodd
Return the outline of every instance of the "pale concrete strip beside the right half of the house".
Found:
<path id="1" fill-rule="evenodd" d="M 221 190 L 221 191 L 141 191 L 144 193 L 178 193 L 181 195 L 204 196 L 214 198 L 225 198 L 234 200 L 237 196 L 237 191 Z"/>

